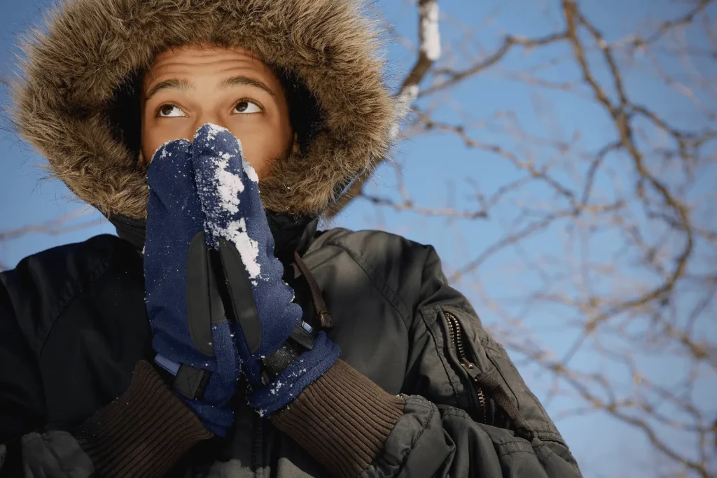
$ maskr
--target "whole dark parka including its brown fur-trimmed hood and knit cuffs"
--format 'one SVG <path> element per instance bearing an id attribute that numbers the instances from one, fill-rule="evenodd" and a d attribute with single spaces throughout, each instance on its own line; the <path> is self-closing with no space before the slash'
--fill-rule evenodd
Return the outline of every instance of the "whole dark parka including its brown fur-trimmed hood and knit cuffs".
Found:
<path id="1" fill-rule="evenodd" d="M 375 37 L 351 0 L 69 0 L 29 35 L 16 128 L 120 238 L 0 274 L 0 475 L 580 476 L 432 247 L 316 232 L 389 148 L 397 107 Z M 262 178 L 262 201 L 303 320 L 341 347 L 270 419 L 238 386 L 226 439 L 150 365 L 141 254 L 138 79 L 158 52 L 202 42 L 250 49 L 282 76 L 300 147 Z"/>

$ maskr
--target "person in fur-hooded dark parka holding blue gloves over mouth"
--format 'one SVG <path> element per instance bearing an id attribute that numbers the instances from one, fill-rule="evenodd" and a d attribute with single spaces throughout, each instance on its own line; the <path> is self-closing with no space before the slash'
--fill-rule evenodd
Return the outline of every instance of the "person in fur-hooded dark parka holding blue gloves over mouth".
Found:
<path id="1" fill-rule="evenodd" d="M 581 476 L 432 247 L 318 231 L 397 103 L 349 0 L 70 0 L 19 133 L 118 236 L 0 274 L 18 477 Z"/>

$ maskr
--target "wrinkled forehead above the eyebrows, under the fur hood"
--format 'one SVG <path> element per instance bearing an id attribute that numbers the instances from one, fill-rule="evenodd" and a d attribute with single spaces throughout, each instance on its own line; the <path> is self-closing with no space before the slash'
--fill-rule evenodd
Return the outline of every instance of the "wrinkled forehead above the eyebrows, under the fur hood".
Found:
<path id="1" fill-rule="evenodd" d="M 234 74 L 256 77 L 272 89 L 280 87 L 275 72 L 247 49 L 213 45 L 191 45 L 167 49 L 155 58 L 143 81 L 143 89 L 168 79 L 212 79 L 217 82 Z"/>

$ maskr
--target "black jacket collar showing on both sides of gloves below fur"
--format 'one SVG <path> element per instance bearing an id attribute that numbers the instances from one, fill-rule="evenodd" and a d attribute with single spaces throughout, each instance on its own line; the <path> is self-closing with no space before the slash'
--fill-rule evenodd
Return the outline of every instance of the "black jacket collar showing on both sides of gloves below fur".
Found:
<path id="1" fill-rule="evenodd" d="M 266 211 L 269 229 L 274 236 L 275 256 L 283 263 L 293 262 L 294 251 L 303 255 L 316 233 L 318 218 L 293 216 Z M 138 252 L 144 249 L 146 219 L 134 219 L 123 214 L 110 214 L 107 219 L 115 226 L 120 239 L 132 244 Z"/>

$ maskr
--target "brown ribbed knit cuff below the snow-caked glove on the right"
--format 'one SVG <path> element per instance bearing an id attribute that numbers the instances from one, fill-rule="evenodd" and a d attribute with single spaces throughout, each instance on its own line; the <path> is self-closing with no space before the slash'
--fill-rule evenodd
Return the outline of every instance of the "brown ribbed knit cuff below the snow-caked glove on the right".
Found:
<path id="1" fill-rule="evenodd" d="M 403 398 L 338 360 L 271 421 L 331 476 L 353 478 L 384 449 L 403 410 Z"/>

